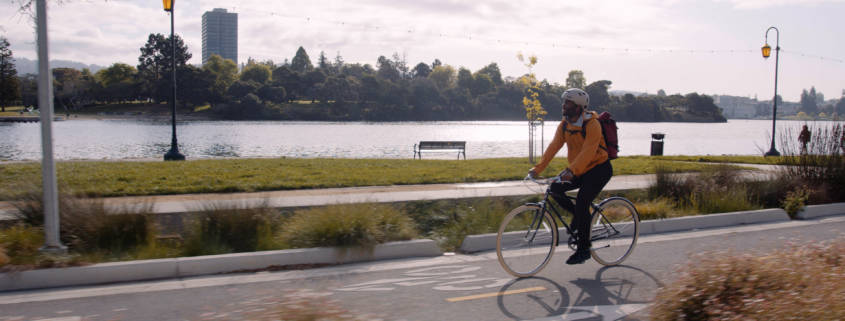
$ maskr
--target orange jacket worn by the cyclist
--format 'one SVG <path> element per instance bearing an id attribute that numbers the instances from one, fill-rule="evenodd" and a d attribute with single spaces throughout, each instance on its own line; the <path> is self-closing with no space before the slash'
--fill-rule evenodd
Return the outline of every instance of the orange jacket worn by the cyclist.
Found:
<path id="1" fill-rule="evenodd" d="M 587 111 L 583 114 L 587 126 L 586 136 L 581 135 L 581 127 L 568 123 L 566 118 L 560 122 L 555 131 L 555 138 L 549 143 L 543 159 L 534 166 L 532 170 L 538 175 L 549 166 L 558 151 L 565 143 L 567 145 L 567 156 L 569 170 L 575 176 L 581 176 L 596 165 L 607 161 L 607 145 L 604 143 L 601 134 L 601 125 L 598 122 L 599 115 L 594 111 Z M 566 133 L 563 132 L 563 124 L 566 125 Z M 601 146 L 601 148 L 599 148 Z"/>

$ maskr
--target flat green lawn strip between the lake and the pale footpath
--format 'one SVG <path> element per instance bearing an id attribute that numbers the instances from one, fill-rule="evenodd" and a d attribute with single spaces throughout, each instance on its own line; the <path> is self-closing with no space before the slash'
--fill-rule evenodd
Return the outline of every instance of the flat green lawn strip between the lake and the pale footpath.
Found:
<path id="1" fill-rule="evenodd" d="M 701 171 L 708 164 L 649 157 L 613 161 L 615 175 Z M 557 158 L 543 173 L 567 166 Z M 0 164 L 0 199 L 19 199 L 41 183 L 40 163 Z M 184 162 L 63 161 L 57 163 L 61 192 L 90 197 L 256 192 L 351 186 L 488 182 L 522 179 L 526 158 L 475 160 L 409 159 L 214 159 Z"/>

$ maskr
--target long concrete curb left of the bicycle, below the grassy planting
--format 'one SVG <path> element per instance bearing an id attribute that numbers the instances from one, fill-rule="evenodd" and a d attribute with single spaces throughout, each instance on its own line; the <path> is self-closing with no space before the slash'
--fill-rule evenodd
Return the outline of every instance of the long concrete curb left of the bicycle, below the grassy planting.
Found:
<path id="1" fill-rule="evenodd" d="M 340 264 L 439 256 L 428 239 L 390 242 L 373 248 L 310 248 L 94 264 L 0 274 L 0 291 L 94 285 L 260 270 L 272 266 Z"/>

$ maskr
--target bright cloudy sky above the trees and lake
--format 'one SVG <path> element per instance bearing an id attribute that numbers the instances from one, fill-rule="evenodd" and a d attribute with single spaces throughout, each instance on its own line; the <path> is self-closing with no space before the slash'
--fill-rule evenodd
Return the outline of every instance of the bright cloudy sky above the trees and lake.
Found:
<path id="1" fill-rule="evenodd" d="M 15 57 L 36 58 L 34 24 L 0 0 L 0 34 Z M 50 1 L 55 3 L 54 1 Z M 137 65 L 150 33 L 170 32 L 161 1 L 67 0 L 49 7 L 50 58 Z M 778 93 L 797 101 L 815 86 L 827 99 L 845 89 L 845 0 L 366 0 L 176 1 L 176 33 L 202 56 L 205 11 L 238 13 L 239 57 L 276 63 L 303 46 L 316 62 L 376 64 L 405 55 L 413 66 L 435 58 L 472 71 L 496 62 L 504 76 L 527 69 L 518 52 L 536 55 L 538 77 L 563 83 L 580 69 L 612 90 L 699 92 L 770 99 L 774 52 L 763 59 L 766 29 L 781 43 Z M 774 48 L 777 35 L 769 33 Z"/>

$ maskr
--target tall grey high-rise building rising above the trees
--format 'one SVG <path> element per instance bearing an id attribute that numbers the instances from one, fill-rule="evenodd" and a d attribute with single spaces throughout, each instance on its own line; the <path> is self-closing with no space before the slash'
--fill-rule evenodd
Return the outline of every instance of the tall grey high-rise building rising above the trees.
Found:
<path id="1" fill-rule="evenodd" d="M 215 8 L 202 15 L 202 63 L 211 55 L 238 63 L 238 14 Z"/>

